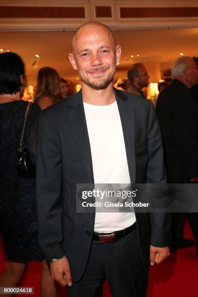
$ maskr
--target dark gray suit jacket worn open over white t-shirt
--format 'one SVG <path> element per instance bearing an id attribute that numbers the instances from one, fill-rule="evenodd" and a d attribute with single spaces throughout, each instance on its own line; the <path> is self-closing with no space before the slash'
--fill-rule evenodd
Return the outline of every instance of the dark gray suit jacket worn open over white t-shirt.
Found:
<path id="1" fill-rule="evenodd" d="M 114 92 L 131 182 L 165 182 L 162 141 L 152 103 L 127 92 Z M 85 270 L 95 220 L 93 213 L 76 212 L 76 183 L 94 183 L 81 91 L 41 113 L 37 161 L 39 242 L 48 263 L 66 254 L 74 282 Z M 170 217 L 137 213 L 136 221 L 147 269 L 149 245 L 170 243 Z"/>

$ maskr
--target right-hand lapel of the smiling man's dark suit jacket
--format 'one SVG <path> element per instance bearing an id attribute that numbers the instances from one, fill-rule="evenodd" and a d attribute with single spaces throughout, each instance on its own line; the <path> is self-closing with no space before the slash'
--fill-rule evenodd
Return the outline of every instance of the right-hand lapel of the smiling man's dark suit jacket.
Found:
<path id="1" fill-rule="evenodd" d="M 135 183 L 134 108 L 133 104 L 127 104 L 127 101 L 132 99 L 115 88 L 114 92 L 122 123 L 129 175 L 131 183 Z"/>

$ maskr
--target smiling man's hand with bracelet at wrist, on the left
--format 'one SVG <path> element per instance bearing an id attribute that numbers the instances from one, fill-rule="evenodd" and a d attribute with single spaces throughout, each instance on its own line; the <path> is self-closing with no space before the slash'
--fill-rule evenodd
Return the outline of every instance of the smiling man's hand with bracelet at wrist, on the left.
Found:
<path id="1" fill-rule="evenodd" d="M 50 274 L 51 278 L 61 286 L 68 285 L 70 287 L 72 285 L 69 262 L 66 257 L 50 263 Z"/>

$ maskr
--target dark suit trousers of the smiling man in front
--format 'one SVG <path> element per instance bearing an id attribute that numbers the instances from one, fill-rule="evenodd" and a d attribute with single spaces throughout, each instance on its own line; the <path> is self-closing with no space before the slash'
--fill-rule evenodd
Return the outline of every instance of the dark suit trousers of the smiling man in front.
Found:
<path id="1" fill-rule="evenodd" d="M 82 280 L 67 288 L 67 294 L 102 297 L 105 279 L 114 297 L 146 297 L 148 270 L 142 265 L 137 230 L 114 243 L 93 241 Z"/>

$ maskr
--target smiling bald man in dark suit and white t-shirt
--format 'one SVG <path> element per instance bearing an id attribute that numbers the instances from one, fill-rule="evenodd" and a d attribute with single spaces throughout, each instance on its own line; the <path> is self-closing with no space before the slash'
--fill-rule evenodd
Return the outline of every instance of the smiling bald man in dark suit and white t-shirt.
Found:
<path id="1" fill-rule="evenodd" d="M 72 297 L 101 297 L 105 279 L 115 297 L 145 297 L 149 262 L 169 254 L 167 214 L 76 212 L 77 183 L 165 182 L 152 104 L 113 88 L 120 54 L 108 27 L 82 25 L 69 54 L 82 91 L 40 119 L 40 245 Z"/>

